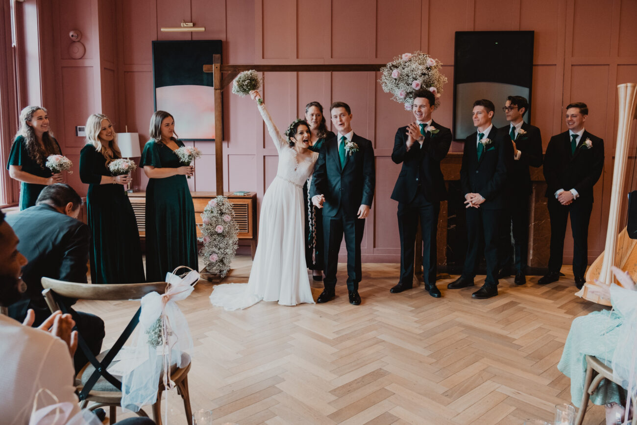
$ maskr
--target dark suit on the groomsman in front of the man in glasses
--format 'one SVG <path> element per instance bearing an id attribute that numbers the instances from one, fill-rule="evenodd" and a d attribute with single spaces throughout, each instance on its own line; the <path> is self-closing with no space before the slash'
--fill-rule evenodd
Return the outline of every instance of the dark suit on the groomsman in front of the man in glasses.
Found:
<path id="1" fill-rule="evenodd" d="M 504 134 L 503 134 L 504 133 Z M 479 193 L 485 199 L 479 208 L 466 209 L 467 217 L 467 256 L 462 269 L 462 277 L 473 281 L 478 261 L 480 235 L 483 234 L 487 261 L 485 285 L 497 285 L 497 245 L 499 220 L 506 205 L 506 175 L 513 161 L 513 145 L 506 131 L 495 126 L 485 136 L 491 142 L 484 147 L 478 160 L 478 132 L 464 141 L 464 154 L 460 179 L 462 194 Z M 484 139 L 483 139 L 484 140 Z"/>

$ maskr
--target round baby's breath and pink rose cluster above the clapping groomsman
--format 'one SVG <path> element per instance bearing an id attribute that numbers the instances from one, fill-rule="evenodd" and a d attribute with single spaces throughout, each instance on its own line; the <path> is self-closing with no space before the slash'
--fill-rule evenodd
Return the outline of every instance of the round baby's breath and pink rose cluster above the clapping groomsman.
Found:
<path id="1" fill-rule="evenodd" d="M 412 110 L 413 94 L 416 90 L 427 89 L 436 96 L 435 108 L 440 106 L 442 88 L 447 77 L 441 73 L 442 63 L 422 52 L 404 53 L 380 68 L 382 76 L 378 82 L 385 93 L 391 93 L 392 100 L 403 103 Z"/>

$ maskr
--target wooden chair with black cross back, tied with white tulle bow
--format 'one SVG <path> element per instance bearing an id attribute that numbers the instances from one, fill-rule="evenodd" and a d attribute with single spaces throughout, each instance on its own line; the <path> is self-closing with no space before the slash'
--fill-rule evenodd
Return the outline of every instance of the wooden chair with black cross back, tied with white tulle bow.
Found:
<path id="1" fill-rule="evenodd" d="M 129 300 L 140 299 L 150 292 L 163 294 L 166 290 L 166 282 L 154 282 L 148 284 L 116 284 L 116 285 L 89 285 L 63 282 L 47 277 L 42 278 L 42 287 L 48 308 L 52 312 L 61 310 L 68 313 L 69 307 L 64 304 L 64 298 L 81 298 L 97 300 Z M 110 423 L 116 421 L 115 412 L 122 402 L 122 382 L 111 375 L 106 369 L 113 363 L 113 358 L 122 349 L 126 340 L 131 336 L 137 324 L 140 322 L 141 306 L 126 326 L 122 335 L 108 350 L 104 350 L 97 357 L 90 352 L 89 347 L 82 338 L 78 337 L 78 348 L 81 349 L 89 359 L 76 377 L 76 387 L 80 398 L 80 407 L 87 407 L 89 401 L 94 404 L 89 409 L 98 407 L 110 407 Z M 182 396 L 183 407 L 185 408 L 186 420 L 192 425 L 192 411 L 190 409 L 190 396 L 188 392 L 188 371 L 190 370 L 190 356 L 182 352 L 182 367 L 175 365 L 171 368 L 171 380 L 175 382 L 177 391 Z M 163 373 L 163 372 L 162 372 Z M 79 383 L 78 383 L 79 382 Z M 153 419 L 157 425 L 161 425 L 161 396 L 164 391 L 162 378 L 157 385 L 157 401 L 152 405 Z M 148 417 L 146 412 L 140 409 L 138 415 Z"/>

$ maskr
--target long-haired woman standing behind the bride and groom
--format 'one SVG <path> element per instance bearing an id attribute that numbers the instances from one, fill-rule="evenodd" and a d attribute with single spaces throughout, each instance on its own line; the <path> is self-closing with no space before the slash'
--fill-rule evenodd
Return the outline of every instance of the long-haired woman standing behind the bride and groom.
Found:
<path id="1" fill-rule="evenodd" d="M 310 150 L 318 152 L 324 141 L 335 135 L 327 129 L 323 106 L 310 102 L 305 106 L 305 120 L 310 124 Z M 308 179 L 311 184 L 311 176 Z M 319 208 L 308 202 L 308 183 L 303 185 L 305 210 L 305 262 L 312 271 L 313 280 L 323 279 L 323 215 Z"/>

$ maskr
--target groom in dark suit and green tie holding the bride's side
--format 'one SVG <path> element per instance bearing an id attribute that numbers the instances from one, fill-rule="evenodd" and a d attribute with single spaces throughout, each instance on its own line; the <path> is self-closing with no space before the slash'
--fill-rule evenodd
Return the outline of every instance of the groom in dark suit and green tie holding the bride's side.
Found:
<path id="1" fill-rule="evenodd" d="M 338 134 L 326 140 L 321 148 L 310 190 L 312 203 L 324 208 L 325 289 L 317 303 L 327 303 L 334 298 L 338 251 L 345 234 L 347 290 L 350 303 L 359 305 L 362 233 L 374 198 L 376 179 L 374 149 L 371 141 L 354 134 L 350 125 L 352 110 L 347 103 L 334 102 L 329 111 Z"/>

